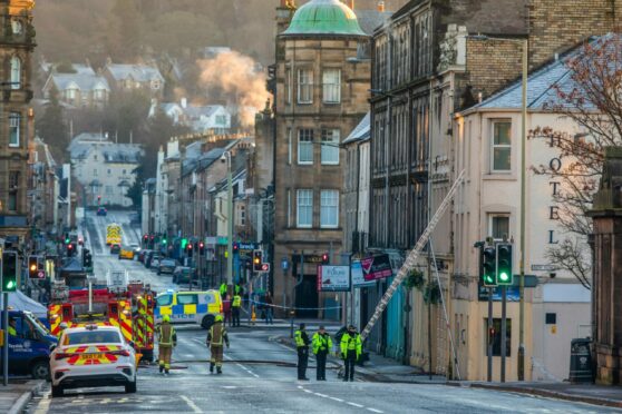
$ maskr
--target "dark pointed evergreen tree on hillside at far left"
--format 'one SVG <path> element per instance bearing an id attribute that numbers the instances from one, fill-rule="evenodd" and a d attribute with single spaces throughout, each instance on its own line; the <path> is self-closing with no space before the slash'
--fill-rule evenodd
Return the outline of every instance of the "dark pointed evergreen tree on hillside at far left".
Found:
<path id="1" fill-rule="evenodd" d="M 39 137 L 49 144 L 54 158 L 60 162 L 66 161 L 69 137 L 65 114 L 58 100 L 56 87 L 52 87 L 50 90 L 49 103 L 46 106 L 41 118 L 37 121 L 36 130 Z"/>

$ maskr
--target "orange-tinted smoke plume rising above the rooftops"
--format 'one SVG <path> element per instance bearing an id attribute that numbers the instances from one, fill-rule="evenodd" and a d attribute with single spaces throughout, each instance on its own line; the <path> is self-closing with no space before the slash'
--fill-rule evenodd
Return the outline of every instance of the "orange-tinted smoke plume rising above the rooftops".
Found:
<path id="1" fill-rule="evenodd" d="M 265 107 L 271 97 L 265 90 L 265 73 L 257 70 L 257 63 L 236 51 L 222 52 L 208 60 L 197 61 L 201 87 L 208 97 L 221 95 L 229 106 L 237 108 L 243 128 L 254 125 L 255 112 Z"/>

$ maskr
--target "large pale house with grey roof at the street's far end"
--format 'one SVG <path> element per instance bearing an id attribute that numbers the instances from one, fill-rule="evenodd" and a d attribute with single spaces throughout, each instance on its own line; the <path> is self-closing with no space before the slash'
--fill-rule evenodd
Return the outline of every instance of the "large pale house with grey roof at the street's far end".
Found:
<path id="1" fill-rule="evenodd" d="M 132 206 L 126 194 L 144 154 L 139 145 L 115 144 L 100 134 L 85 132 L 71 140 L 68 150 L 88 206 Z"/>

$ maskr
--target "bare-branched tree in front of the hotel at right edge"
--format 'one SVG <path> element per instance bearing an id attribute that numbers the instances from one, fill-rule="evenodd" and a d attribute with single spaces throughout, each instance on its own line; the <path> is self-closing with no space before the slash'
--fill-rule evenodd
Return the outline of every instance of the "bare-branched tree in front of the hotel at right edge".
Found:
<path id="1" fill-rule="evenodd" d="M 560 225 L 568 236 L 550 248 L 548 259 L 571 272 L 590 287 L 591 264 L 587 236 L 592 220 L 585 213 L 603 169 L 604 149 L 622 146 L 622 38 L 609 34 L 585 42 L 565 62 L 567 80 L 555 85 L 555 99 L 548 110 L 574 121 L 582 134 L 568 135 L 551 127 L 537 127 L 529 138 L 546 138 L 558 149 L 558 165 L 534 167 L 536 174 L 548 175 L 560 183 L 554 195 Z M 577 241 L 576 235 L 580 236 Z"/>

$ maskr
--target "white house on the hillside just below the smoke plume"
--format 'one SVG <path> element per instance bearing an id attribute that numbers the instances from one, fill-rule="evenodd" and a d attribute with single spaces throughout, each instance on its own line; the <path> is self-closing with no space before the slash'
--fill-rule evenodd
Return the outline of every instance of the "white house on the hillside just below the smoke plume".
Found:
<path id="1" fill-rule="evenodd" d="M 231 130 L 231 112 L 222 105 L 188 105 L 186 98 L 182 98 L 179 103 L 158 103 L 153 99 L 149 117 L 154 117 L 158 109 L 175 124 L 187 126 L 194 132 L 227 134 Z"/>

